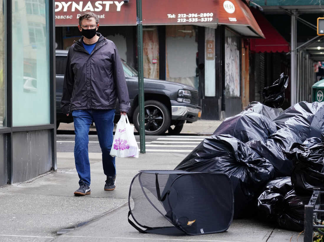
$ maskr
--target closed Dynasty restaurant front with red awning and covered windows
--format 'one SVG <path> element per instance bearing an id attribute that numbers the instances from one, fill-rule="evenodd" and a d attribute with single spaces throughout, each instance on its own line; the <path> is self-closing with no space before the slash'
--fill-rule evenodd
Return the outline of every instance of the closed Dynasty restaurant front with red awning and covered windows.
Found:
<path id="1" fill-rule="evenodd" d="M 144 77 L 199 90 L 202 119 L 229 117 L 249 93 L 249 47 L 263 37 L 247 1 L 142 0 Z M 82 12 L 99 16 L 99 29 L 121 58 L 137 68 L 136 1 L 55 1 L 56 48 L 81 37 Z"/>

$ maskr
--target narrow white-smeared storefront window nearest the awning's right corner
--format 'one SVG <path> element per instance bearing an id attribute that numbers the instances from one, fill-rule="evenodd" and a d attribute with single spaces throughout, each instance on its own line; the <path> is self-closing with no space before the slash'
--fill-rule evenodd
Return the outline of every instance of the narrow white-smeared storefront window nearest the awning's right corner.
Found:
<path id="1" fill-rule="evenodd" d="M 225 95 L 240 96 L 240 37 L 225 30 Z"/>

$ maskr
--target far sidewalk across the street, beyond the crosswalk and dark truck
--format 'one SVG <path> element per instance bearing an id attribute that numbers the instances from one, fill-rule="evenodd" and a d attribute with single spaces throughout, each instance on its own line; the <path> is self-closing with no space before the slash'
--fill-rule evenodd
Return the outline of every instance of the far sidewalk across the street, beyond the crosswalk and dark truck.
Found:
<path id="1" fill-rule="evenodd" d="M 219 121 L 219 120 L 202 120 L 202 119 L 198 120 L 196 122 L 193 122 L 193 123 L 185 123 L 183 125 L 183 128 L 182 128 L 180 134 L 202 135 L 202 136 L 212 135 L 221 123 L 222 123 L 222 121 Z M 58 131 L 74 130 L 74 124 L 73 123 L 61 123 L 57 130 Z M 95 126 L 90 126 L 90 131 L 96 131 Z M 136 132 L 136 129 L 135 129 L 135 132 Z M 168 135 L 168 132 L 166 132 L 166 135 Z"/>

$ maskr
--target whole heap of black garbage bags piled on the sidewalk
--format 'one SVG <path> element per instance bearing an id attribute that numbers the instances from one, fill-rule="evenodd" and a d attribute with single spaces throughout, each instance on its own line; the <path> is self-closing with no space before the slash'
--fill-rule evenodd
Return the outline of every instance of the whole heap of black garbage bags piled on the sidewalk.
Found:
<path id="1" fill-rule="evenodd" d="M 312 189 L 324 188 L 324 102 L 281 109 L 288 80 L 282 73 L 264 89 L 263 103 L 224 120 L 175 170 L 224 172 L 234 189 L 234 219 L 259 214 L 302 231 Z"/>

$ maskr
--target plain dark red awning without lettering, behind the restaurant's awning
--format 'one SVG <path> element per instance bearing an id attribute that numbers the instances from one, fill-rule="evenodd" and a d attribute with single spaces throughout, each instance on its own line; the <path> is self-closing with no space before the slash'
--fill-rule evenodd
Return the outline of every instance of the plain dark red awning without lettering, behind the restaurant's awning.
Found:
<path id="1" fill-rule="evenodd" d="M 250 50 L 255 52 L 289 52 L 289 43 L 257 9 L 251 8 L 265 39 L 250 39 Z"/>

